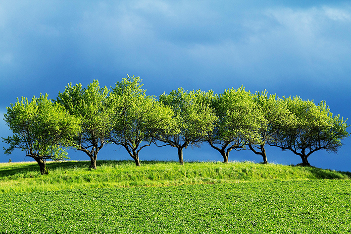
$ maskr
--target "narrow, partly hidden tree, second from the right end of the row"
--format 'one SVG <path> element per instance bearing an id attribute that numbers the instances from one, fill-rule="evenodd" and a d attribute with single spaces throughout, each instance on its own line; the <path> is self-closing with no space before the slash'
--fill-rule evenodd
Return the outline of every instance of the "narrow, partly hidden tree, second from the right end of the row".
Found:
<path id="1" fill-rule="evenodd" d="M 269 96 L 267 94 L 267 91 L 262 91 L 256 92 L 253 96 L 253 101 L 260 108 L 265 121 L 261 121 L 259 127 L 259 141 L 248 142 L 249 149 L 256 155 L 262 156 L 263 164 L 268 163 L 265 144 L 275 142 L 274 137 L 279 126 L 289 126 L 293 124 L 295 119 L 287 109 L 286 104 L 276 94 Z"/>

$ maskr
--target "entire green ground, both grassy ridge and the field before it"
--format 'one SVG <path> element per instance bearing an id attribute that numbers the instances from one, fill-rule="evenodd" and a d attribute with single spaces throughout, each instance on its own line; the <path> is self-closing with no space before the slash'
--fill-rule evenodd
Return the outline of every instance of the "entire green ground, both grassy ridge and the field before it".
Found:
<path id="1" fill-rule="evenodd" d="M 0 164 L 0 233 L 351 233 L 351 174 L 250 162 Z"/>

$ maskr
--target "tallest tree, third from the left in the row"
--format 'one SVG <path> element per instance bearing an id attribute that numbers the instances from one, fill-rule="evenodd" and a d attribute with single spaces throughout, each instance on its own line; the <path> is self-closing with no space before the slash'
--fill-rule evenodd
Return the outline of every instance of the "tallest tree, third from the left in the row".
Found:
<path id="1" fill-rule="evenodd" d="M 123 78 L 110 94 L 114 116 L 109 140 L 123 146 L 140 166 L 139 152 L 150 146 L 156 132 L 167 131 L 173 112 L 146 96 L 140 77 Z"/>

